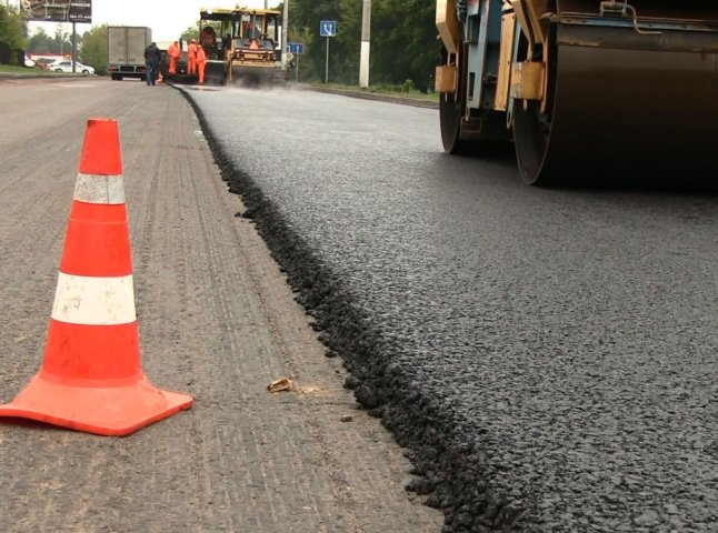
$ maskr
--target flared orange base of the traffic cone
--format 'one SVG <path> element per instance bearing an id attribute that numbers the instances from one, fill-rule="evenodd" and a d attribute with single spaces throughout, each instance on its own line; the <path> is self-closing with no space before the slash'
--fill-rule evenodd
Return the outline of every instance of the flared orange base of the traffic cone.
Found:
<path id="1" fill-rule="evenodd" d="M 192 396 L 156 389 L 142 375 L 121 386 L 73 386 L 37 374 L 0 416 L 31 419 L 98 435 L 124 436 L 190 409 Z"/>

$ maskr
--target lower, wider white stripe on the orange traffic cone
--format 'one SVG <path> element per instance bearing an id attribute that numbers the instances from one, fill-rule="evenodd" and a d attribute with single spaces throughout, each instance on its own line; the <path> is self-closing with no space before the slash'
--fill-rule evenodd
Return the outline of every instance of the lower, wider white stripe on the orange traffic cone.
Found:
<path id="1" fill-rule="evenodd" d="M 83 325 L 134 322 L 137 314 L 132 275 L 89 278 L 60 272 L 52 319 Z"/>

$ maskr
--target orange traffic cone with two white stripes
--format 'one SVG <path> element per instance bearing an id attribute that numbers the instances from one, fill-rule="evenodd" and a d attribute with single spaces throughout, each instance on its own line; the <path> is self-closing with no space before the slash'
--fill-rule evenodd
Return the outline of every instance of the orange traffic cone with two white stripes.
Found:
<path id="1" fill-rule="evenodd" d="M 44 361 L 0 416 L 128 435 L 192 402 L 142 373 L 117 122 L 90 119 Z"/>

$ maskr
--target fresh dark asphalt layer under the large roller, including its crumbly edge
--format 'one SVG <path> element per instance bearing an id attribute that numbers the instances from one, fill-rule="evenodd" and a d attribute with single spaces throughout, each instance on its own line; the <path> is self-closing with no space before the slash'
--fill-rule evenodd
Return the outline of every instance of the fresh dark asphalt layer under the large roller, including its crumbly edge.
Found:
<path id="1" fill-rule="evenodd" d="M 532 189 L 436 110 L 187 92 L 447 531 L 718 531 L 715 192 Z"/>

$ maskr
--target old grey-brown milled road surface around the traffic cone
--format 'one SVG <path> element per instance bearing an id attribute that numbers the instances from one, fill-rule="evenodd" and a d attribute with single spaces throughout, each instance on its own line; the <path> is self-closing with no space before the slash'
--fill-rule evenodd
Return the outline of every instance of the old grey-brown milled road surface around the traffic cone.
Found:
<path id="1" fill-rule="evenodd" d="M 432 532 L 181 93 L 0 81 L 0 401 L 42 362 L 86 119 L 119 121 L 144 373 L 192 410 L 124 438 L 0 423 L 0 531 Z M 267 384 L 296 380 L 276 395 Z M 350 421 L 343 421 L 351 418 Z"/>

